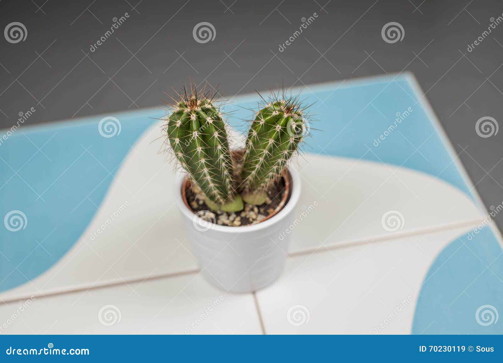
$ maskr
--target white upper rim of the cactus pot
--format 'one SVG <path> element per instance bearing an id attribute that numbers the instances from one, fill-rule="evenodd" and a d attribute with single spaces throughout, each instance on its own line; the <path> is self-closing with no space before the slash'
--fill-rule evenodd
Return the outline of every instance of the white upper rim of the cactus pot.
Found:
<path id="1" fill-rule="evenodd" d="M 275 214 L 271 214 L 264 220 L 260 221 L 259 223 L 256 224 L 249 224 L 249 225 L 240 225 L 240 226 L 228 226 L 228 225 L 219 225 L 214 223 L 210 230 L 218 231 L 218 232 L 223 232 L 223 233 L 243 233 L 243 232 L 254 232 L 254 231 L 259 231 L 266 229 L 274 224 L 279 223 L 281 220 L 283 220 L 295 207 L 297 204 L 299 198 L 300 198 L 300 191 L 301 191 L 301 183 L 299 179 L 299 173 L 298 171 L 292 167 L 289 166 L 288 169 L 286 170 L 287 173 L 290 174 L 290 193 L 285 193 L 286 195 L 286 203 L 281 208 L 278 212 Z M 184 197 L 182 195 L 182 186 L 183 183 L 186 180 L 186 176 L 183 175 L 182 177 L 178 178 L 178 181 L 176 183 L 176 192 L 177 195 L 179 195 L 179 199 L 177 200 L 177 204 L 182 211 L 182 213 L 189 219 L 193 218 L 200 218 L 197 216 L 194 211 L 186 205 L 184 201 Z"/>

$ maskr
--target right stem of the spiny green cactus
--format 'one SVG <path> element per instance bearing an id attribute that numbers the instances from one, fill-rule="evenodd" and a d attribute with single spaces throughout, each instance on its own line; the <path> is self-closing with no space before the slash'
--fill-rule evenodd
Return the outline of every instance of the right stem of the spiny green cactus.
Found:
<path id="1" fill-rule="evenodd" d="M 307 108 L 307 107 L 306 107 Z M 243 155 L 241 196 L 246 203 L 260 205 L 267 190 L 281 176 L 297 151 L 306 128 L 305 108 L 298 97 L 272 96 L 252 121 Z"/>

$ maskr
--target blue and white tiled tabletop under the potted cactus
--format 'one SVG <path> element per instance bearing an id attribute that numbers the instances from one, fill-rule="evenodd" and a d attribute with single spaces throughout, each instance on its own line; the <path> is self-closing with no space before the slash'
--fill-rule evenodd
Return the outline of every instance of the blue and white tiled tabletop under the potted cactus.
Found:
<path id="1" fill-rule="evenodd" d="M 162 122 L 149 118 L 161 111 L 112 115 L 121 131 L 110 138 L 103 115 L 13 135 L 0 149 L 0 211 L 26 220 L 0 231 L 0 333 L 503 332 L 475 317 L 483 305 L 503 311 L 501 237 L 414 78 L 303 94 L 323 132 L 297 161 L 302 221 L 281 279 L 250 294 L 219 291 L 197 270 Z M 231 124 L 255 98 L 227 106 Z"/>

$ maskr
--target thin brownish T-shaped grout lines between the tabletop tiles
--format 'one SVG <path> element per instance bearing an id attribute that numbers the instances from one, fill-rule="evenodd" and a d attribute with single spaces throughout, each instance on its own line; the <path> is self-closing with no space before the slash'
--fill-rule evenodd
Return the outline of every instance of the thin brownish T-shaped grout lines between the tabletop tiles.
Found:
<path id="1" fill-rule="evenodd" d="M 421 234 L 425 234 L 427 232 L 428 233 L 429 232 L 436 233 L 436 232 L 440 232 L 440 231 L 444 231 L 444 230 L 460 228 L 465 225 L 466 226 L 474 225 L 474 223 L 481 222 L 482 220 L 483 220 L 483 216 L 481 215 L 480 218 L 477 218 L 477 219 L 467 220 L 467 221 L 458 222 L 458 223 L 450 223 L 450 224 L 446 224 L 443 226 L 437 226 L 437 227 L 434 227 L 431 229 L 423 228 L 423 229 L 417 229 L 417 230 L 412 230 L 409 232 L 400 233 L 397 235 L 380 236 L 380 237 L 374 237 L 374 238 L 369 238 L 369 239 L 371 239 L 372 241 L 374 241 L 376 243 L 379 243 L 379 242 L 386 241 L 386 240 L 393 240 L 393 239 L 398 239 L 398 238 L 410 237 L 410 236 L 414 236 L 414 235 L 421 235 Z M 311 249 L 307 249 L 307 250 L 291 252 L 291 253 L 288 253 L 287 256 L 288 257 L 297 257 L 297 256 L 303 256 L 303 255 L 312 254 L 312 253 L 320 253 L 320 252 L 344 249 L 344 248 L 348 248 L 348 247 L 352 247 L 352 246 L 367 244 L 367 243 L 369 243 L 369 239 L 353 240 L 353 241 L 349 241 L 347 243 L 342 243 L 342 244 L 333 245 L 333 246 L 321 246 L 321 247 L 311 248 Z M 8 304 L 8 303 L 13 303 L 13 302 L 18 302 L 20 299 L 29 299 L 29 298 L 31 298 L 31 296 L 34 296 L 36 298 L 45 298 L 45 297 L 59 296 L 59 295 L 64 295 L 64 294 L 69 294 L 69 293 L 74 293 L 74 292 L 79 292 L 79 291 L 97 290 L 97 289 L 102 289 L 102 288 L 107 288 L 107 287 L 120 286 L 120 285 L 125 285 L 125 284 L 130 284 L 130 283 L 145 282 L 145 281 L 158 280 L 158 279 L 164 279 L 164 278 L 169 279 L 169 278 L 173 278 L 173 277 L 196 274 L 199 271 L 200 271 L 199 269 L 192 269 L 192 270 L 186 270 L 186 271 L 175 272 L 175 273 L 159 274 L 159 275 L 154 275 L 154 276 L 150 276 L 147 278 L 140 277 L 137 279 L 122 280 L 122 281 L 111 282 L 111 283 L 103 283 L 101 285 L 91 286 L 91 287 L 83 286 L 83 287 L 78 287 L 78 288 L 64 290 L 64 291 L 48 292 L 43 295 L 42 294 L 39 294 L 39 295 L 34 295 L 34 294 L 19 295 L 19 296 L 15 296 L 13 298 L 8 298 L 6 300 L 0 298 L 0 302 Z M 257 305 L 257 310 L 259 312 L 259 316 L 261 316 L 260 310 L 258 307 L 258 300 L 255 295 L 255 292 L 253 292 L 253 294 L 254 294 L 254 299 L 256 300 L 256 305 Z M 261 320 L 261 325 L 263 325 L 262 320 Z M 265 331 L 264 327 L 263 327 L 263 331 Z M 265 332 L 264 332 L 264 334 L 265 334 Z"/>

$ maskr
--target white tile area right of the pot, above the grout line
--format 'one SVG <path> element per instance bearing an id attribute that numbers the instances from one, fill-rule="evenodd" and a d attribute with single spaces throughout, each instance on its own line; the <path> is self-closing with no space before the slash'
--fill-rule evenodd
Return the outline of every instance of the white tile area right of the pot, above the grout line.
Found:
<path id="1" fill-rule="evenodd" d="M 425 173 L 380 162 L 306 154 L 291 252 L 482 220 L 473 201 Z M 399 212 L 399 213 L 397 213 Z M 383 226 L 383 215 L 398 216 Z"/>

